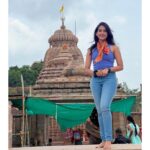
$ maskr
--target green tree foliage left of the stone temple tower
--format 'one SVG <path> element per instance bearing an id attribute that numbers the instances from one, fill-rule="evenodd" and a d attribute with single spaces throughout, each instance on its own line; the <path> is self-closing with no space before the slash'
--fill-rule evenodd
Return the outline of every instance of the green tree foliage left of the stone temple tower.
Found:
<path id="1" fill-rule="evenodd" d="M 21 74 L 23 75 L 24 85 L 34 85 L 42 69 L 43 62 L 35 62 L 31 66 L 24 65 L 21 68 L 17 66 L 9 68 L 9 87 L 21 86 Z"/>

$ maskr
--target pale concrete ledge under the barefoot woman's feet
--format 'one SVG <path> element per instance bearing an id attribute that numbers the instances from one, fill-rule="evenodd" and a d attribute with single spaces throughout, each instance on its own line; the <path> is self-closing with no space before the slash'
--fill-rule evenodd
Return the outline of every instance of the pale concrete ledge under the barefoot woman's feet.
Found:
<path id="1" fill-rule="evenodd" d="M 10 148 L 9 150 L 103 150 L 96 148 L 97 145 L 67 145 L 67 146 L 39 146 Z M 141 150 L 138 144 L 113 144 L 112 150 Z"/>

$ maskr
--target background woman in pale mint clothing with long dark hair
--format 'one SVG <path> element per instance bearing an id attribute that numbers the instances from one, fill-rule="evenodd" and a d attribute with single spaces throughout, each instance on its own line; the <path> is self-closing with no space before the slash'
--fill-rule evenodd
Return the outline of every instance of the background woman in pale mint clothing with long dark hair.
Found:
<path id="1" fill-rule="evenodd" d="M 139 126 L 135 123 L 131 116 L 127 116 L 127 121 L 127 138 L 131 140 L 132 144 L 141 144 L 141 139 L 139 137 Z"/>

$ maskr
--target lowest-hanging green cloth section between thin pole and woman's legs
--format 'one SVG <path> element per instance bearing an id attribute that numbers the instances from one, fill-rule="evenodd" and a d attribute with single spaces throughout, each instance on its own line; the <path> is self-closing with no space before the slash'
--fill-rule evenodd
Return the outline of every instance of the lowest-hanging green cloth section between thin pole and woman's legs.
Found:
<path id="1" fill-rule="evenodd" d="M 94 104 L 63 104 L 58 105 L 56 119 L 61 130 L 72 128 L 84 123 L 91 114 Z"/>

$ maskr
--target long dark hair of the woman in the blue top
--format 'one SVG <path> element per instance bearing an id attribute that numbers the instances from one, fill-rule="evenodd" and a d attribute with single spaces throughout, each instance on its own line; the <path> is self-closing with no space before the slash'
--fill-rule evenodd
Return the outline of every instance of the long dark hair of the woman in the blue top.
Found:
<path id="1" fill-rule="evenodd" d="M 94 31 L 94 44 L 91 45 L 91 47 L 90 47 L 90 50 L 91 50 L 91 51 L 97 46 L 97 42 L 99 41 L 98 37 L 96 36 L 96 33 L 97 33 L 98 28 L 99 28 L 100 26 L 104 26 L 105 29 L 106 29 L 106 32 L 107 32 L 107 39 L 106 39 L 106 41 L 107 41 L 107 43 L 110 44 L 110 45 L 115 45 L 114 37 L 113 37 L 113 34 L 112 34 L 112 31 L 111 31 L 110 27 L 108 26 L 107 23 L 105 23 L 105 22 L 100 22 L 100 23 L 97 25 L 97 27 L 96 27 L 96 29 L 95 29 L 95 31 Z"/>

